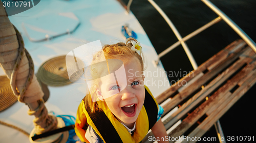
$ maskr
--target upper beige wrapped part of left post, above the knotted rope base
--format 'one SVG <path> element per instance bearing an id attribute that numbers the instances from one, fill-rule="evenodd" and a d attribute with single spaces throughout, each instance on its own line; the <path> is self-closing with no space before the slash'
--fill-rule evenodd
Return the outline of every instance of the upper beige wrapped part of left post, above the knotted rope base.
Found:
<path id="1" fill-rule="evenodd" d="M 0 17 L 0 65 L 11 80 L 12 91 L 19 102 L 31 103 L 44 96 L 34 76 L 33 61 L 24 48 L 22 36 L 6 16 Z"/>

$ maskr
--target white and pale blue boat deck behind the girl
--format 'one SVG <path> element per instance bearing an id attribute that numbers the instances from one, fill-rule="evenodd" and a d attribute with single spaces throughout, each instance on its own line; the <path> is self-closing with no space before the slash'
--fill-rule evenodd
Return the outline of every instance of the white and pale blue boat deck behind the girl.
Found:
<path id="1" fill-rule="evenodd" d="M 80 21 L 80 25 L 73 34 L 63 35 L 49 41 L 31 42 L 26 36 L 22 23 L 36 20 L 38 17 L 52 14 L 70 15 L 73 13 Z M 64 13 L 64 14 L 63 14 Z M 129 23 L 129 26 L 138 35 L 138 41 L 143 48 L 147 69 L 145 70 L 145 84 L 156 97 L 170 87 L 163 66 L 157 68 L 153 60 L 157 59 L 157 53 L 144 32 L 136 17 L 126 14 L 124 8 L 115 0 L 112 1 L 40 1 L 38 5 L 25 12 L 9 16 L 10 21 L 22 33 L 25 47 L 30 52 L 34 61 L 35 73 L 41 64 L 59 55 L 66 55 L 72 49 L 100 40 L 102 45 L 125 42 L 121 33 L 121 26 Z M 54 19 L 49 19 L 49 23 Z M 56 21 L 56 20 L 55 20 Z M 51 24 L 49 24 L 51 25 Z M 64 25 L 64 24 L 63 24 Z M 67 24 L 65 24 L 67 25 Z M 62 24 L 59 25 L 60 27 Z M 0 75 L 4 75 L 0 69 Z M 54 111 L 55 115 L 72 115 L 76 117 L 77 107 L 85 96 L 86 83 L 72 83 L 63 87 L 48 87 L 50 97 L 46 102 L 48 111 Z M 16 102 L 9 108 L 0 112 L 0 120 L 15 125 L 31 132 L 34 128 L 32 120 L 34 116 L 27 114 L 28 106 Z M 29 138 L 23 133 L 0 125 L 0 142 L 29 142 Z"/>

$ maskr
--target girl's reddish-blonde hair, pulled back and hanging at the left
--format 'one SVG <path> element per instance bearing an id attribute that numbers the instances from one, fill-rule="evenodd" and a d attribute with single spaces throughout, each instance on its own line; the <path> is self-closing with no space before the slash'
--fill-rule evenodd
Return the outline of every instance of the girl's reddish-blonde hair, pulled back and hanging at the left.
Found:
<path id="1" fill-rule="evenodd" d="M 106 60 L 107 59 L 120 59 L 123 62 L 126 62 L 127 60 L 129 60 L 133 57 L 136 57 L 140 62 L 142 71 L 144 71 L 144 62 L 142 60 L 142 56 L 139 55 L 136 51 L 133 51 L 131 49 L 131 47 L 133 46 L 131 41 L 138 42 L 134 38 L 129 38 L 126 41 L 126 44 L 120 42 L 120 43 L 116 43 L 116 44 L 113 44 L 113 45 L 103 46 L 102 51 L 104 53 L 105 59 Z M 93 56 L 92 64 L 95 64 L 95 63 L 98 63 L 99 61 L 102 61 L 102 51 L 99 51 L 98 53 L 96 53 Z M 91 70 L 93 70 L 94 75 L 91 75 L 91 76 L 93 76 L 93 78 L 98 77 L 100 72 L 101 72 L 101 69 L 96 68 L 96 67 L 94 69 L 91 69 Z M 95 80 L 93 84 L 96 85 L 97 83 L 99 83 L 99 79 Z M 86 97 L 83 98 L 85 107 L 86 108 L 90 107 L 92 112 L 94 112 L 96 110 L 99 110 L 97 102 L 92 101 L 92 95 L 93 95 L 93 97 L 95 97 L 95 95 L 96 95 L 96 90 L 94 88 L 94 85 L 91 86 L 90 92 L 88 92 Z M 98 101 L 98 102 L 102 102 L 102 101 Z"/>

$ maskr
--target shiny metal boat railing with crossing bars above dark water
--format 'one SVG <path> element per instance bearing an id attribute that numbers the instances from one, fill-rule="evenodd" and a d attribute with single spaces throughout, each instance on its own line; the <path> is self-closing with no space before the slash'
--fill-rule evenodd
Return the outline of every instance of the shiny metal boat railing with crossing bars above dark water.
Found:
<path id="1" fill-rule="evenodd" d="M 174 43 L 172 46 L 169 46 L 164 51 L 162 51 L 161 53 L 158 54 L 158 59 L 156 61 L 154 61 L 156 65 L 159 64 L 160 58 L 162 58 L 162 56 L 164 56 L 169 51 L 172 51 L 174 48 L 178 47 L 181 44 L 188 56 L 188 59 L 189 59 L 191 65 L 193 66 L 193 69 L 196 70 L 198 68 L 198 65 L 194 59 L 193 54 L 190 52 L 187 44 L 185 43 L 185 41 L 196 36 L 197 34 L 206 30 L 206 28 L 220 22 L 221 20 L 224 20 L 256 53 L 255 42 L 236 23 L 234 23 L 226 14 L 224 14 L 219 8 L 217 8 L 210 1 L 208 1 L 208 0 L 201 0 L 201 1 L 206 6 L 208 6 L 212 11 L 214 11 L 217 15 L 219 15 L 219 17 L 217 17 L 216 19 L 214 19 L 214 20 L 210 21 L 209 23 L 203 25 L 202 27 L 198 28 L 198 30 L 196 30 L 196 31 L 190 33 L 189 35 L 185 36 L 184 38 L 182 38 L 180 33 L 178 32 L 177 28 L 173 24 L 173 22 L 168 18 L 168 16 L 163 12 L 163 10 L 153 0 L 148 0 L 148 2 L 150 2 L 151 5 L 162 15 L 164 20 L 168 23 L 170 28 L 172 28 L 174 34 L 176 35 L 177 39 L 179 40 L 178 42 Z M 126 8 L 127 12 L 130 12 L 131 3 L 132 3 L 132 0 L 130 0 L 128 2 L 127 8 Z"/>

